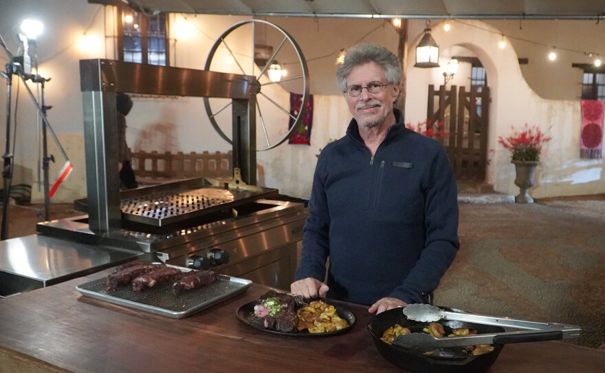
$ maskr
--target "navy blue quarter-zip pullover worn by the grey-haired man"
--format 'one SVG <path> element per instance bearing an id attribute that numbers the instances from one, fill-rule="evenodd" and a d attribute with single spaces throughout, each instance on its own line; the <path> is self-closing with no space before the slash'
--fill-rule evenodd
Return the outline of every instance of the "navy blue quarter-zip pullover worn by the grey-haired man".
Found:
<path id="1" fill-rule="evenodd" d="M 396 123 L 374 156 L 351 120 L 320 153 L 296 280 L 328 297 L 371 305 L 432 292 L 460 246 L 456 179 L 441 143 Z"/>

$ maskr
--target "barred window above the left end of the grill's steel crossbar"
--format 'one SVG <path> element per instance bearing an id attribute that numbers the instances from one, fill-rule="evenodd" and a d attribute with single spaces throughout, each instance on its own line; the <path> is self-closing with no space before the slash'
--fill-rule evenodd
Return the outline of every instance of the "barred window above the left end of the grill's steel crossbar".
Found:
<path id="1" fill-rule="evenodd" d="M 118 59 L 126 62 L 169 65 L 166 14 L 146 16 L 118 9 Z"/>

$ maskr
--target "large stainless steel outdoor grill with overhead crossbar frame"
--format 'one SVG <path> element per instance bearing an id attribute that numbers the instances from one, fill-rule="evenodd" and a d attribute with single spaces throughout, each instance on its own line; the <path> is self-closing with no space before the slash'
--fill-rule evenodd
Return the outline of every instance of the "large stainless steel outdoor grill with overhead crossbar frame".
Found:
<path id="1" fill-rule="evenodd" d="M 80 78 L 87 198 L 75 206 L 87 215 L 44 222 L 37 231 L 120 248 L 133 258 L 212 268 L 222 275 L 289 288 L 307 210 L 277 189 L 254 185 L 259 92 L 254 76 L 96 59 L 80 61 Z M 115 169 L 118 145 L 111 141 L 117 131 L 117 92 L 231 98 L 234 177 L 193 178 L 120 191 Z"/>

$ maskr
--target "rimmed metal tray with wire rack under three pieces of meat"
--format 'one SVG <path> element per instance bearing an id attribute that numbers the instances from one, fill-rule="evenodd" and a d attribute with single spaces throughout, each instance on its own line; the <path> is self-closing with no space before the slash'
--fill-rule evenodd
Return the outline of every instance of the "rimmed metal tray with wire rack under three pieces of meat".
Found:
<path id="1" fill-rule="evenodd" d="M 182 268 L 182 270 L 188 270 L 188 268 Z M 103 277 L 78 285 L 76 290 L 87 297 L 173 319 L 188 317 L 195 312 L 220 303 L 245 291 L 252 284 L 252 281 L 247 279 L 219 275 L 219 281 L 214 284 L 188 290 L 180 295 L 173 295 L 170 291 L 170 284 L 159 284 L 142 292 L 134 292 L 131 286 L 120 286 L 116 290 L 107 291 L 104 282 Z"/>

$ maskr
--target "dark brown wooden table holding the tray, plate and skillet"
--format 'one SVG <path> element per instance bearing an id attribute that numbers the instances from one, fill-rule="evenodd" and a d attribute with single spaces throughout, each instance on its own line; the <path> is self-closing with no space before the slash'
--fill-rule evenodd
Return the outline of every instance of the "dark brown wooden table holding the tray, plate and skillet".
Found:
<path id="1" fill-rule="evenodd" d="M 0 372 L 401 372 L 378 354 L 364 306 L 333 337 L 281 337 L 238 321 L 246 292 L 185 319 L 80 295 L 76 285 L 107 270 L 0 299 Z M 489 372 L 602 372 L 605 350 L 559 341 L 505 346 Z"/>

